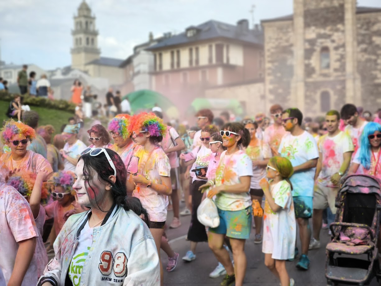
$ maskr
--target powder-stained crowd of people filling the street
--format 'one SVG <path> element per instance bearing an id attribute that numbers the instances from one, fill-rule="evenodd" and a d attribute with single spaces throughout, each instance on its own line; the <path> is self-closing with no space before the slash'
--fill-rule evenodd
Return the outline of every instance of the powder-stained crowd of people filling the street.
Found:
<path id="1" fill-rule="evenodd" d="M 74 93 L 80 102 L 78 81 Z M 279 104 L 269 118 L 240 122 L 201 109 L 193 127 L 165 124 L 158 107 L 134 115 L 109 108 L 108 125 L 91 126 L 87 144 L 78 136 L 82 122 L 73 118 L 53 136 L 52 125 L 38 126 L 36 112 L 18 112 L 18 96 L 12 106 L 18 121 L 1 130 L 0 284 L 163 285 L 164 268 L 172 272 L 180 259 L 165 229 L 191 215 L 182 260 L 194 261 L 197 244 L 208 242 L 216 257 L 209 276 L 242 286 L 245 243 L 255 228 L 266 267 L 282 286 L 294 285 L 286 261 L 309 269 L 309 251 L 321 247 L 320 230 L 334 220 L 341 179 L 381 179 L 379 117 L 370 122 L 353 104 L 321 122 Z M 197 217 L 206 198 L 217 208 L 217 227 Z"/>

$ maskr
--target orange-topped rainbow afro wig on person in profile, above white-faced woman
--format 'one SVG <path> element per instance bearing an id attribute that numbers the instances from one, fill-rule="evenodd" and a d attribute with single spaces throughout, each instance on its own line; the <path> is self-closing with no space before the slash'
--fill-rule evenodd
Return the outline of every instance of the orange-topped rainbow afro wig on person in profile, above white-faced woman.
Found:
<path id="1" fill-rule="evenodd" d="M 166 125 L 163 123 L 163 119 L 157 117 L 154 113 L 142 112 L 136 114 L 130 119 L 130 129 L 133 131 L 148 131 L 150 136 L 165 136 Z"/>

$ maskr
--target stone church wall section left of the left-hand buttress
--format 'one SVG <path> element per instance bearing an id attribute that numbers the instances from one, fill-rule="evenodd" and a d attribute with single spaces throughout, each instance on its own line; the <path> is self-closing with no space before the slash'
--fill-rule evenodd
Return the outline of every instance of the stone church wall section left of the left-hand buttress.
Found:
<path id="1" fill-rule="evenodd" d="M 287 106 L 291 98 L 293 22 L 264 22 L 266 110 L 274 103 Z"/>

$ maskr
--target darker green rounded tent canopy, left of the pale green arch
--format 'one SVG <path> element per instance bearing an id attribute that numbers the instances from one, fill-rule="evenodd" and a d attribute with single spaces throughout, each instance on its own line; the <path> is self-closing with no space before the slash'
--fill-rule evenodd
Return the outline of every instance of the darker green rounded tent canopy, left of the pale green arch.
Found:
<path id="1" fill-rule="evenodd" d="M 142 109 L 152 109 L 155 103 L 170 117 L 178 117 L 179 111 L 172 101 L 153 90 L 142 89 L 128 93 L 122 100 L 127 99 L 130 102 L 132 114 Z M 168 112 L 167 112 L 168 111 Z"/>

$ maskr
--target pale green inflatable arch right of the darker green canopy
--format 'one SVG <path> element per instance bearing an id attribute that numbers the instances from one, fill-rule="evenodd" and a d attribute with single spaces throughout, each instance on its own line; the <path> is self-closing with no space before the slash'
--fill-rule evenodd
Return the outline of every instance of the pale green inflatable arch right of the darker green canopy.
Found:
<path id="1" fill-rule="evenodd" d="M 235 115 L 242 115 L 243 108 L 241 103 L 236 99 L 218 99 L 218 98 L 195 98 L 191 107 L 194 112 L 203 108 L 229 110 Z"/>

